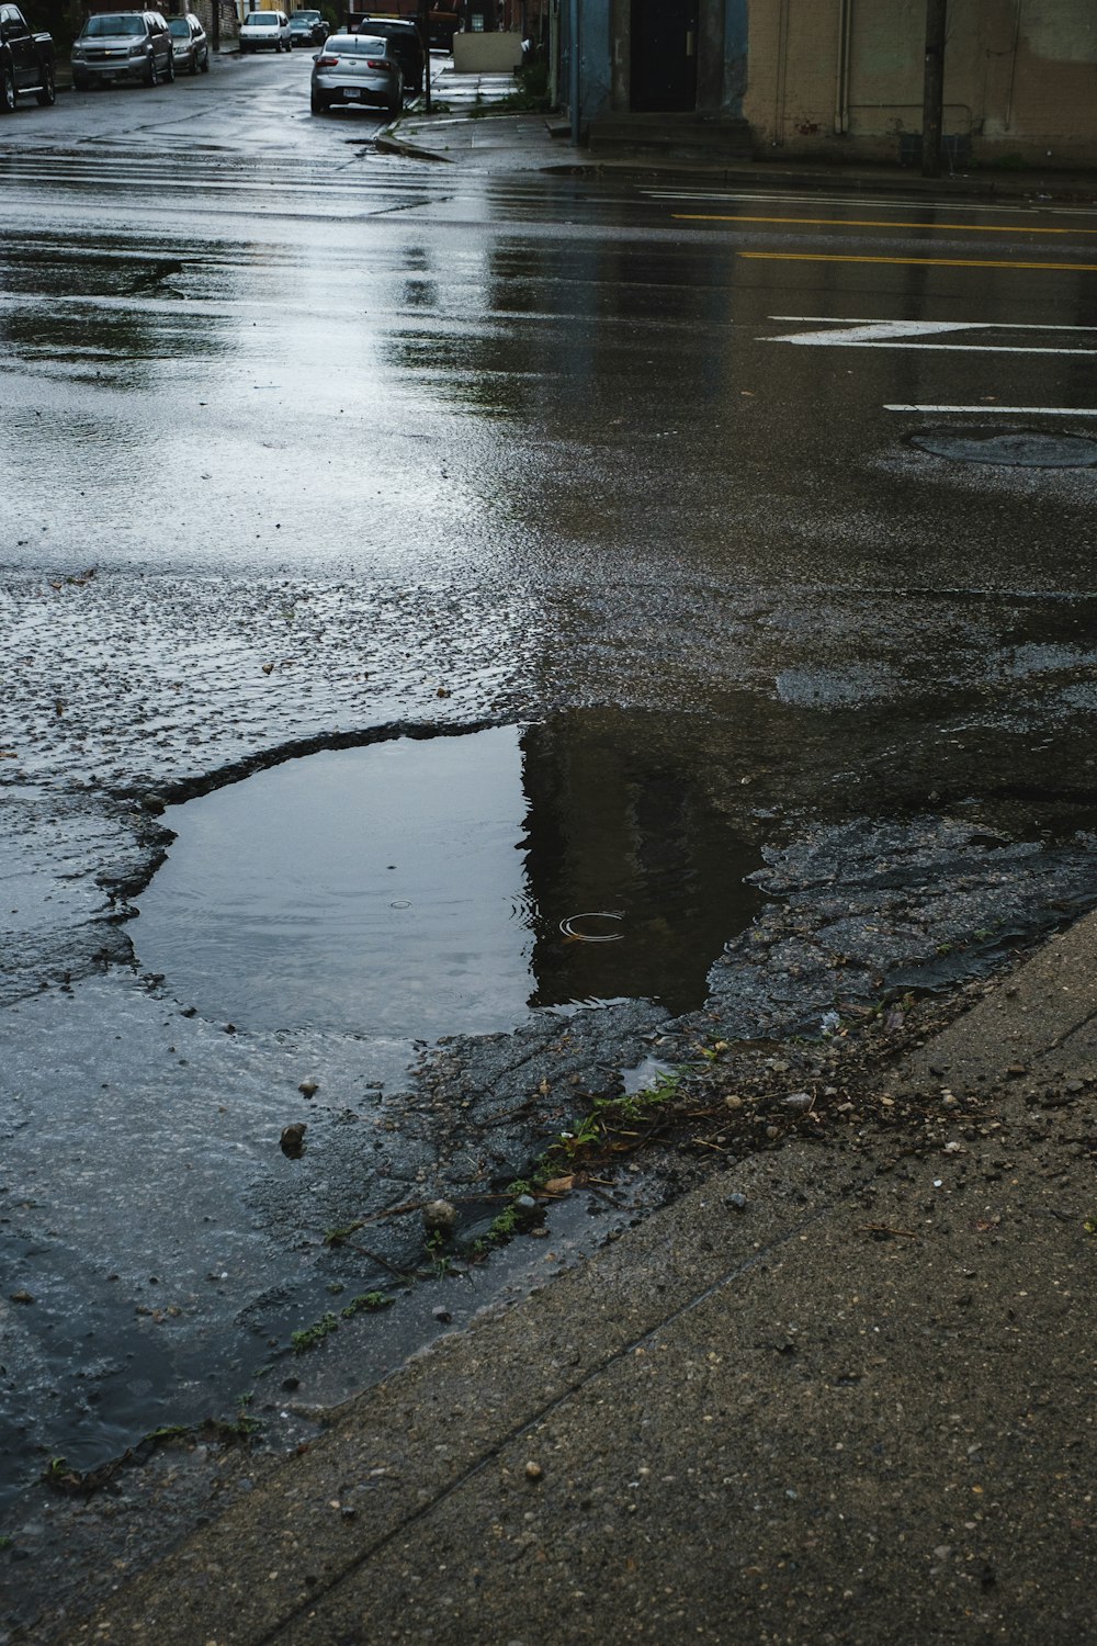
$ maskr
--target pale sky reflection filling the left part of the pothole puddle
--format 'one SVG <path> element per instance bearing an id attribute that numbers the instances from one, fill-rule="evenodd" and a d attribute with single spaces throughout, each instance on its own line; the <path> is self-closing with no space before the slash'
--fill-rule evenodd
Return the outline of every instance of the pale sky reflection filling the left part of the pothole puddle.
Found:
<path id="1" fill-rule="evenodd" d="M 518 731 L 288 760 L 174 808 L 145 965 L 247 1025 L 511 1027 L 531 993 Z"/>

